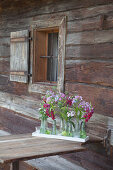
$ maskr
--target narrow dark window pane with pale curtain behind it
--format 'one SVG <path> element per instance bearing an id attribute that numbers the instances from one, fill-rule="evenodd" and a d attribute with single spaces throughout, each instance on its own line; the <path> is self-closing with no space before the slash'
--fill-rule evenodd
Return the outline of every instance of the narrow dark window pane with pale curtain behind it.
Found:
<path id="1" fill-rule="evenodd" d="M 48 34 L 47 80 L 57 81 L 58 74 L 58 33 Z"/>

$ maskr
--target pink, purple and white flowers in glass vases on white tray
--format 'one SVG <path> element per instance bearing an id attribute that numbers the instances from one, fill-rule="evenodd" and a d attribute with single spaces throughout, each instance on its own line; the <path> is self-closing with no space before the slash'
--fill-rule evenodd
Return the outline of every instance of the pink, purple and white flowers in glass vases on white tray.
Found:
<path id="1" fill-rule="evenodd" d="M 63 136 L 86 137 L 85 123 L 89 121 L 94 113 L 91 103 L 85 102 L 82 96 L 69 96 L 64 93 L 47 91 L 42 97 L 40 133 L 56 135 L 56 117 L 60 117 L 61 125 L 59 132 Z M 53 121 L 52 131 L 46 129 L 46 120 L 51 118 Z"/>

